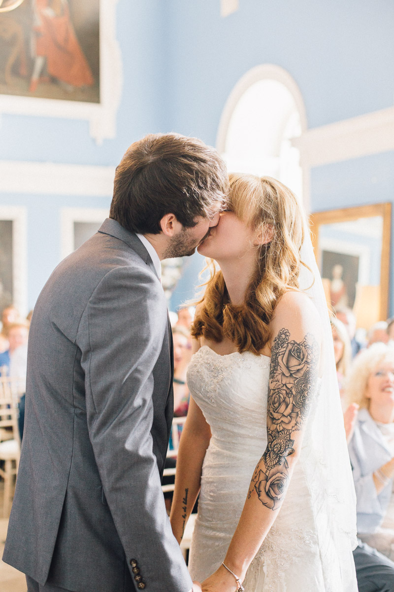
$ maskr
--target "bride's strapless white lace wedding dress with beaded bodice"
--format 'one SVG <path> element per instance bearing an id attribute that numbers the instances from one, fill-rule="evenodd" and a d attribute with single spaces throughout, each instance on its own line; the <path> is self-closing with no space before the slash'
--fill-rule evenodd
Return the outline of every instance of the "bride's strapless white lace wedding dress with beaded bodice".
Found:
<path id="1" fill-rule="evenodd" d="M 267 356 L 251 352 L 222 356 L 207 346 L 191 359 L 187 384 L 212 433 L 191 543 L 193 580 L 203 581 L 222 563 L 253 471 L 266 448 L 269 363 Z M 357 592 L 355 580 L 343 581 L 329 516 L 324 524 L 324 507 L 318 509 L 317 527 L 310 490 L 312 485 L 324 488 L 324 482 L 308 483 L 304 470 L 310 462 L 308 427 L 312 421 L 313 410 L 284 503 L 250 564 L 245 592 Z M 321 467 L 315 474 L 319 480 Z M 321 499 L 324 506 L 324 489 Z M 353 561 L 350 544 L 349 561 Z"/>

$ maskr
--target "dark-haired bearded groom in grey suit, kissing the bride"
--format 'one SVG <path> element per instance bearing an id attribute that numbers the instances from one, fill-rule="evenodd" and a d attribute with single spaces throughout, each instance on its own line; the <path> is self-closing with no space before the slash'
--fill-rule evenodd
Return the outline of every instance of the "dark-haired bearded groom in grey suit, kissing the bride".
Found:
<path id="1" fill-rule="evenodd" d="M 173 407 L 160 260 L 194 252 L 227 189 L 226 166 L 200 140 L 135 142 L 110 218 L 38 298 L 3 557 L 29 592 L 192 587 L 160 483 Z"/>

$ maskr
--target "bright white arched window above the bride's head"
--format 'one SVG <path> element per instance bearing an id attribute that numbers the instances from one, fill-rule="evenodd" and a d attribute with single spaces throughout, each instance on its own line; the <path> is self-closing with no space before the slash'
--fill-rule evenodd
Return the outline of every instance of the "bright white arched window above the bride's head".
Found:
<path id="1" fill-rule="evenodd" d="M 297 83 L 282 67 L 265 64 L 246 72 L 233 88 L 216 146 L 230 171 L 278 178 L 308 206 L 309 172 L 303 175 L 299 150 L 292 144 L 306 129 Z"/>

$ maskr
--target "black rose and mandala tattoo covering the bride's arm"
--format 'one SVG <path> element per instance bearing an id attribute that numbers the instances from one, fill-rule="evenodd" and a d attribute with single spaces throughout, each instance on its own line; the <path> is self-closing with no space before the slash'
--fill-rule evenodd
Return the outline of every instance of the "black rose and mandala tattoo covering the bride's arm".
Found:
<path id="1" fill-rule="evenodd" d="M 294 432 L 302 428 L 316 390 L 319 348 L 310 333 L 301 343 L 281 329 L 273 340 L 267 401 L 266 450 L 256 466 L 248 497 L 276 510 L 289 482 L 287 457 L 294 454 Z"/>

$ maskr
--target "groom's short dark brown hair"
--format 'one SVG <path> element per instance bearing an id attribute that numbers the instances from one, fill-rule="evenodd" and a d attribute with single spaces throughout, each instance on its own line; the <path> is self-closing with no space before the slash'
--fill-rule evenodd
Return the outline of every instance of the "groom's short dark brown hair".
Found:
<path id="1" fill-rule="evenodd" d="M 149 134 L 127 150 L 116 168 L 110 218 L 126 230 L 158 234 L 160 220 L 174 214 L 185 227 L 224 205 L 226 165 L 216 150 L 180 134 Z"/>

